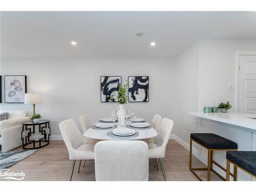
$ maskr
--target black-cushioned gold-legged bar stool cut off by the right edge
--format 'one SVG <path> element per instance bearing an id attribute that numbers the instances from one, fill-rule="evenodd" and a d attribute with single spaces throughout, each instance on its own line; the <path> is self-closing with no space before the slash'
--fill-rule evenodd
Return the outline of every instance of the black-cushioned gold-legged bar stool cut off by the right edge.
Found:
<path id="1" fill-rule="evenodd" d="M 256 152 L 227 152 L 227 178 L 226 181 L 229 181 L 229 168 L 230 163 L 234 167 L 239 167 L 247 174 L 256 178 Z M 234 168 L 235 169 L 235 168 Z M 234 181 L 237 181 L 237 178 L 234 178 Z"/>

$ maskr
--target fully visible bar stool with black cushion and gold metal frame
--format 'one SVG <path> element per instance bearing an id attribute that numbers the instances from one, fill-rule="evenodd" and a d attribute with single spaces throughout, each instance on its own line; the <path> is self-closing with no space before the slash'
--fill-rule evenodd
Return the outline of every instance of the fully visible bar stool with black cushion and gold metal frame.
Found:
<path id="1" fill-rule="evenodd" d="M 208 150 L 208 163 L 206 168 L 193 168 L 192 167 L 192 141 L 198 143 Z M 219 173 L 212 168 L 212 163 L 216 164 L 222 170 L 226 172 L 226 169 L 220 164 L 212 160 L 213 151 L 237 151 L 237 143 L 230 141 L 224 137 L 221 137 L 212 133 L 192 133 L 190 135 L 190 156 L 189 156 L 189 169 L 190 171 L 200 180 L 202 179 L 196 174 L 195 170 L 207 170 L 207 181 L 210 181 L 210 171 L 218 175 L 222 180 L 226 180 Z M 234 173 L 230 175 L 234 178 L 237 177 L 237 170 L 234 170 Z"/>

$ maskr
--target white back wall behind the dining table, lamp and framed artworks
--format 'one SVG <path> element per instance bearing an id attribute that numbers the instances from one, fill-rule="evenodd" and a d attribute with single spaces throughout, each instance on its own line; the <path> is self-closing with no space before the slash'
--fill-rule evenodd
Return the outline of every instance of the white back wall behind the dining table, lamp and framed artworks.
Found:
<path id="1" fill-rule="evenodd" d="M 92 122 L 110 117 L 117 103 L 100 102 L 100 76 L 150 76 L 150 102 L 128 103 L 126 109 L 151 121 L 154 114 L 173 118 L 173 70 L 170 59 L 43 59 L 2 58 L 1 75 L 27 75 L 27 92 L 42 94 L 42 103 L 36 104 L 36 113 L 51 120 L 52 135 L 59 135 L 58 123 L 88 114 Z M 3 77 L 4 78 L 4 77 Z M 4 82 L 2 83 L 4 90 Z M 30 104 L 0 105 L 1 110 L 26 110 Z M 80 127 L 80 124 L 79 124 Z"/>

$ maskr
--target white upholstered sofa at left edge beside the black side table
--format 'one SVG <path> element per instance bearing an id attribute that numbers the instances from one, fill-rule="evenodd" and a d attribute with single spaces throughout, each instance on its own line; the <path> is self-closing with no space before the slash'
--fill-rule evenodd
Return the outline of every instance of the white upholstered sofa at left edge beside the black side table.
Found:
<path id="1" fill-rule="evenodd" d="M 7 112 L 7 120 L 0 121 L 0 145 L 2 152 L 6 153 L 22 145 L 22 123 L 30 121 L 26 111 L 0 111 Z"/>

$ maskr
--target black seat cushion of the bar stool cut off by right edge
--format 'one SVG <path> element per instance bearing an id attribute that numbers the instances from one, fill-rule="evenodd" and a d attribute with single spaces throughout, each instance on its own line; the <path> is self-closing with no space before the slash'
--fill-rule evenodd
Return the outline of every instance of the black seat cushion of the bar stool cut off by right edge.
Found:
<path id="1" fill-rule="evenodd" d="M 256 176 L 256 152 L 227 152 L 226 158 Z"/>

